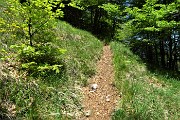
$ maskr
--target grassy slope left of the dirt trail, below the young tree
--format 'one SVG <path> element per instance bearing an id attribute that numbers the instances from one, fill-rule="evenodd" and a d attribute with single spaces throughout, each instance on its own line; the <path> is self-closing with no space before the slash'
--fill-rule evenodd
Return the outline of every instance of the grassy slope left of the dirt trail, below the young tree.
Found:
<path id="1" fill-rule="evenodd" d="M 80 114 L 78 86 L 86 84 L 95 73 L 102 43 L 65 22 L 60 21 L 56 31 L 60 40 L 54 44 L 67 50 L 62 56 L 63 75 L 27 77 L 0 61 L 0 119 L 16 116 L 16 119 L 59 120 Z"/>

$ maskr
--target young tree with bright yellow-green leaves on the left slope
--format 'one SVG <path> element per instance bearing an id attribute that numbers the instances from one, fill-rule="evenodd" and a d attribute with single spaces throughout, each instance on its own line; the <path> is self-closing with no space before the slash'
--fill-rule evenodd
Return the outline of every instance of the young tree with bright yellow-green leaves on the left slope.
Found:
<path id="1" fill-rule="evenodd" d="M 23 3 L 8 0 L 7 4 L 4 15 L 9 19 L 4 16 L 0 25 L 15 41 L 11 48 L 14 48 L 16 62 L 20 62 L 21 68 L 29 74 L 59 73 L 62 67 L 60 56 L 65 50 L 53 44 L 53 41 L 58 40 L 53 28 L 57 23 L 56 17 L 62 17 L 63 12 L 60 8 L 53 11 L 53 8 L 58 5 L 63 7 L 61 0 L 31 0 Z"/>

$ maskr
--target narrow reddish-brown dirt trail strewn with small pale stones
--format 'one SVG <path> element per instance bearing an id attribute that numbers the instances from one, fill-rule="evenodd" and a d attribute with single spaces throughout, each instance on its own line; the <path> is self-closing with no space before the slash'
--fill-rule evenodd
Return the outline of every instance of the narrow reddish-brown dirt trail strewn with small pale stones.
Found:
<path id="1" fill-rule="evenodd" d="M 110 120 L 118 100 L 113 86 L 114 71 L 110 46 L 103 47 L 103 55 L 97 63 L 97 74 L 83 88 L 85 116 L 81 120 Z M 97 89 L 92 90 L 92 85 Z"/>

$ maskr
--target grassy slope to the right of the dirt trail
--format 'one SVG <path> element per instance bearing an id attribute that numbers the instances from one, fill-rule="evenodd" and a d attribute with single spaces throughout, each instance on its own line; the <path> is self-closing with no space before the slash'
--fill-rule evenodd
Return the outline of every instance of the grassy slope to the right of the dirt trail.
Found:
<path id="1" fill-rule="evenodd" d="M 150 73 L 145 64 L 123 44 L 112 42 L 115 85 L 122 93 L 114 120 L 178 120 L 180 82 Z"/>

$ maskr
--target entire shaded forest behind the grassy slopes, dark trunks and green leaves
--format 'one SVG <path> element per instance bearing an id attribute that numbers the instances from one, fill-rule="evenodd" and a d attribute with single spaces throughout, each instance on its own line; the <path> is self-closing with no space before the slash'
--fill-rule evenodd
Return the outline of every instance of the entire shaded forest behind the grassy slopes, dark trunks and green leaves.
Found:
<path id="1" fill-rule="evenodd" d="M 74 0 L 64 4 L 63 20 L 73 26 L 105 41 L 127 43 L 151 68 L 180 70 L 178 0 Z"/>

